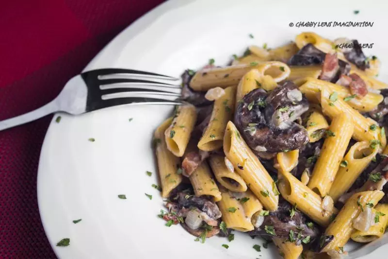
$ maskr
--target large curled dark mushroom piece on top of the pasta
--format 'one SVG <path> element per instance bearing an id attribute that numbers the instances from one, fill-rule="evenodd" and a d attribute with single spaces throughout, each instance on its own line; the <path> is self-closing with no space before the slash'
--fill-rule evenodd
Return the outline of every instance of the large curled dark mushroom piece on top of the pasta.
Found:
<path id="1" fill-rule="evenodd" d="M 290 98 L 291 91 L 300 94 L 300 98 Z M 306 129 L 293 122 L 307 109 L 306 97 L 295 84 L 286 82 L 270 94 L 263 89 L 246 94 L 237 107 L 234 122 L 256 155 L 295 150 L 308 142 Z"/>

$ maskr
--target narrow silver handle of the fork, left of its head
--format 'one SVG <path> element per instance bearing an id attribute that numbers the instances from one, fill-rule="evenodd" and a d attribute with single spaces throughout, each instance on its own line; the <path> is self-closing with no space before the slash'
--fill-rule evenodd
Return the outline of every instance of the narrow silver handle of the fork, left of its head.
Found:
<path id="1" fill-rule="evenodd" d="M 20 116 L 16 116 L 11 119 L 7 119 L 4 121 L 0 121 L 0 131 L 9 129 L 30 121 L 35 121 L 37 119 L 40 119 L 42 117 L 45 117 L 46 115 L 49 115 L 51 113 L 54 113 L 58 111 L 58 104 L 55 102 L 55 100 L 51 101 L 48 104 L 43 105 L 42 107 L 33 110 L 31 112 L 25 113 Z"/>

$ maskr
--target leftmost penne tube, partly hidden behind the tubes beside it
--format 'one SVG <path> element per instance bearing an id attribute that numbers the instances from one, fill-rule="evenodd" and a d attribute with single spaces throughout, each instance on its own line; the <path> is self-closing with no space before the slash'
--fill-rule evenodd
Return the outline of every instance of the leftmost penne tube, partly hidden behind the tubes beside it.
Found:
<path id="1" fill-rule="evenodd" d="M 154 134 L 155 152 L 158 160 L 163 198 L 170 196 L 170 192 L 182 182 L 182 175 L 177 173 L 180 159 L 167 149 L 166 141 L 164 140 L 164 131 L 170 126 L 172 121 L 173 118 L 165 120 L 156 129 Z"/>

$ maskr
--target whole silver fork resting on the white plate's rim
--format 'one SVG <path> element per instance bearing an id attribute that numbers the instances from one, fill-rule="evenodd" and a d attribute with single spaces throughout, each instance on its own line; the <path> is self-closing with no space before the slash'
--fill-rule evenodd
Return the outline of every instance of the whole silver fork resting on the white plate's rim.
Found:
<path id="1" fill-rule="evenodd" d="M 156 79 L 149 81 L 145 79 Z M 0 121 L 0 131 L 37 120 L 54 112 L 73 115 L 123 104 L 182 104 L 181 87 L 164 81 L 178 78 L 133 69 L 96 69 L 71 78 L 48 104 Z"/>

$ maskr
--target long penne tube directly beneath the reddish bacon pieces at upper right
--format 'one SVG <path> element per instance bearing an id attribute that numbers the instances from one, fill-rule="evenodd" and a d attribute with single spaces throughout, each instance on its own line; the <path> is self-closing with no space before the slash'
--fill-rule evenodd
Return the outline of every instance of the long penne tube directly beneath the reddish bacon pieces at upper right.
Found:
<path id="1" fill-rule="evenodd" d="M 338 99 L 341 99 L 341 100 L 343 100 L 346 97 L 350 97 L 352 95 L 349 90 L 349 87 L 339 86 L 327 81 L 323 81 L 323 80 L 319 80 L 311 77 L 307 77 L 305 78 L 305 80 L 306 82 L 299 87 L 299 90 L 302 93 L 304 93 L 307 99 L 311 102 L 318 102 L 319 91 L 322 90 L 323 87 L 326 87 L 331 92 L 337 92 Z M 369 112 L 374 108 L 376 108 L 377 105 L 381 103 L 383 100 L 384 100 L 384 97 L 381 94 L 368 93 L 362 99 L 351 98 L 346 103 L 358 111 Z"/>

